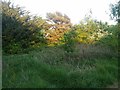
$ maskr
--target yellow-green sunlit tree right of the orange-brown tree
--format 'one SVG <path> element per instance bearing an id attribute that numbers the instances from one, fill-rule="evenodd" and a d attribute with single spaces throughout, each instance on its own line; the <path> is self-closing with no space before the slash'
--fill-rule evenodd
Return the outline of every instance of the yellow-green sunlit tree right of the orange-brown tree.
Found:
<path id="1" fill-rule="evenodd" d="M 85 17 L 80 24 L 74 25 L 77 33 L 76 39 L 80 43 L 92 44 L 107 34 L 107 24 L 93 20 L 91 17 Z"/>

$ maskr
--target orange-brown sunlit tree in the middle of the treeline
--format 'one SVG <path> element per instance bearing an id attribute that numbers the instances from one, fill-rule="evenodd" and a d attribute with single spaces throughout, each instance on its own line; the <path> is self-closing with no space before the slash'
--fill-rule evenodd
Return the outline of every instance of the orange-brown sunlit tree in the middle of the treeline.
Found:
<path id="1" fill-rule="evenodd" d="M 72 26 L 70 18 L 67 15 L 62 15 L 60 12 L 47 13 L 47 22 L 49 28 L 46 31 L 45 37 L 48 43 L 58 43 Z"/>

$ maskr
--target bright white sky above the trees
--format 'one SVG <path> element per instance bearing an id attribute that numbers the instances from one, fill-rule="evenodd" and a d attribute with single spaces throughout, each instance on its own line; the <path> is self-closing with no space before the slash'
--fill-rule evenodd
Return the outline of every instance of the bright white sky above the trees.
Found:
<path id="1" fill-rule="evenodd" d="M 11 0 L 15 5 L 25 7 L 32 15 L 46 17 L 48 12 L 59 11 L 66 14 L 73 24 L 84 19 L 85 15 L 92 11 L 92 17 L 109 24 L 114 24 L 110 19 L 110 4 L 118 0 Z"/>

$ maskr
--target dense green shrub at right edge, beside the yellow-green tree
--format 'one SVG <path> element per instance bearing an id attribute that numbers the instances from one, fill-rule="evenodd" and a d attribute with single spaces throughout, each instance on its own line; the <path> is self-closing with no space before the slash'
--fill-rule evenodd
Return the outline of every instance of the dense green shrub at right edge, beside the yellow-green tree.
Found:
<path id="1" fill-rule="evenodd" d="M 118 42 L 120 42 L 118 36 L 120 33 L 120 29 L 118 25 L 110 26 L 108 29 L 108 35 L 102 37 L 96 44 L 108 46 L 114 50 L 118 50 Z"/>

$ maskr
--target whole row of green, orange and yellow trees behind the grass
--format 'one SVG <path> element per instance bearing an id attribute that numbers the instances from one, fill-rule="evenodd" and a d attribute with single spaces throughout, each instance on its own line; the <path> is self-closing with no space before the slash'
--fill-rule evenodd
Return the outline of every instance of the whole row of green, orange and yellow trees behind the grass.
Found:
<path id="1" fill-rule="evenodd" d="M 119 23 L 108 25 L 87 16 L 73 25 L 66 14 L 32 16 L 11 2 L 2 1 L 2 46 L 7 54 L 26 53 L 31 48 L 61 45 L 72 51 L 75 43 L 106 45 L 117 49 Z"/>

